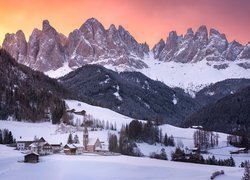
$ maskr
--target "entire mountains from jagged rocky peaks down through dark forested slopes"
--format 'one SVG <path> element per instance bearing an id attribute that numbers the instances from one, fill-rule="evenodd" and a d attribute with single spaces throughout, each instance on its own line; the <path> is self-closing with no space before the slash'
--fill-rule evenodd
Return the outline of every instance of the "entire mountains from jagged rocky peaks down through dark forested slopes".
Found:
<path id="1" fill-rule="evenodd" d="M 56 123 L 67 98 L 137 119 L 219 131 L 224 130 L 211 123 L 223 127 L 229 118 L 234 129 L 241 117 L 249 116 L 242 97 L 248 99 L 250 81 L 243 78 L 250 78 L 250 44 L 228 42 L 215 29 L 208 33 L 206 26 L 185 35 L 172 31 L 150 50 L 122 26 L 105 29 L 91 18 L 66 37 L 45 20 L 28 41 L 21 30 L 6 34 L 2 49 L 1 118 L 53 117 Z M 240 116 L 230 110 L 234 104 Z M 210 115 L 213 111 L 219 119 Z"/>

